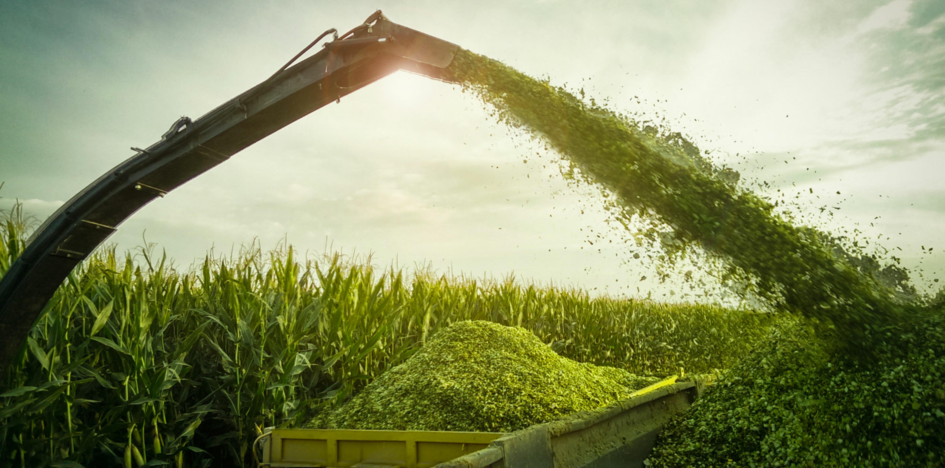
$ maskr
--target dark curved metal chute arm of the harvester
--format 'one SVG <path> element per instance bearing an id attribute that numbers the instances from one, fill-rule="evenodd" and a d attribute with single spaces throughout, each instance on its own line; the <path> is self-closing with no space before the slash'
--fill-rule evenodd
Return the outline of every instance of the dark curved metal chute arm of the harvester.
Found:
<path id="1" fill-rule="evenodd" d="M 138 150 L 50 216 L 0 280 L 0 372 L 63 279 L 151 200 L 285 125 L 397 70 L 445 79 L 457 46 L 391 23 L 380 10 L 339 40 Z"/>

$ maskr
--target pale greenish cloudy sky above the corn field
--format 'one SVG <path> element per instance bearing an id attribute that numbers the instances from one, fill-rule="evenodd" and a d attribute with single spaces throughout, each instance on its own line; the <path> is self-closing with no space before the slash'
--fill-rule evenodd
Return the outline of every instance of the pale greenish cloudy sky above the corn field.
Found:
<path id="1" fill-rule="evenodd" d="M 939 286 L 941 0 L 8 0 L 0 209 L 22 203 L 44 219 L 129 147 L 377 8 L 680 131 L 745 187 L 787 194 L 799 220 L 856 229 L 912 268 L 923 291 Z M 152 202 L 110 242 L 154 242 L 181 267 L 211 249 L 288 242 L 379 266 L 693 300 L 675 280 L 656 283 L 623 227 L 606 222 L 599 190 L 569 186 L 557 167 L 470 94 L 401 72 Z"/>

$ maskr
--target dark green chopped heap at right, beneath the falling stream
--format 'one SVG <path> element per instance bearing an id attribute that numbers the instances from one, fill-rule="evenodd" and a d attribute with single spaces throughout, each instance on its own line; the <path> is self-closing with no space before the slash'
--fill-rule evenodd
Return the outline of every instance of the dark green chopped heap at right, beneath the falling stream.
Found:
<path id="1" fill-rule="evenodd" d="M 945 314 L 902 330 L 867 367 L 779 327 L 665 427 L 647 466 L 942 466 Z"/>

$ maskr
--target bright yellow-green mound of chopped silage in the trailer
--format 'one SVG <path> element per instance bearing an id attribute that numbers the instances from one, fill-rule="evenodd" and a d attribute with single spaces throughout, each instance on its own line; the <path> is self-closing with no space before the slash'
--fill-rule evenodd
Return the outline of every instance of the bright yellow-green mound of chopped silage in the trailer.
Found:
<path id="1" fill-rule="evenodd" d="M 659 380 L 562 358 L 522 327 L 464 321 L 309 426 L 508 432 L 605 407 Z"/>

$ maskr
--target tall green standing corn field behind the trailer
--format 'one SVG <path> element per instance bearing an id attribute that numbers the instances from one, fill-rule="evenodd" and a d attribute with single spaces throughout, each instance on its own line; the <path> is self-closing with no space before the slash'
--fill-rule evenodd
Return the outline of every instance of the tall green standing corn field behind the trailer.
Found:
<path id="1" fill-rule="evenodd" d="M 33 226 L 19 208 L 0 216 L 0 276 Z M 0 466 L 249 466 L 264 427 L 334 407 L 460 320 L 656 376 L 730 367 L 772 322 L 361 260 L 254 243 L 179 269 L 153 248 L 100 249 L 2 376 Z"/>

